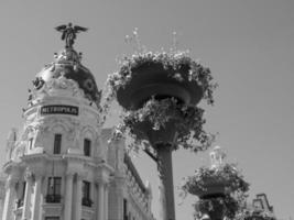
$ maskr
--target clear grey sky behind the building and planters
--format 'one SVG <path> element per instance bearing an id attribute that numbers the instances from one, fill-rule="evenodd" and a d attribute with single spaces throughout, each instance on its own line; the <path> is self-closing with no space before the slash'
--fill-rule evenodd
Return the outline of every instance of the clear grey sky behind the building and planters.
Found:
<path id="1" fill-rule="evenodd" d="M 190 48 L 219 84 L 215 107 L 204 105 L 207 130 L 219 132 L 216 144 L 239 163 L 251 195 L 265 193 L 279 218 L 294 217 L 293 10 L 291 0 L 1 1 L 1 164 L 8 131 L 22 123 L 31 80 L 63 47 L 53 28 L 69 21 L 90 28 L 76 47 L 99 88 L 118 69 L 116 58 L 131 52 L 123 40 L 134 28 L 150 50 L 168 48 L 176 31 L 179 47 Z M 155 165 L 139 157 L 142 177 L 153 186 L 156 216 Z M 176 152 L 175 186 L 206 157 Z M 192 200 L 176 205 L 177 219 L 193 219 Z"/>

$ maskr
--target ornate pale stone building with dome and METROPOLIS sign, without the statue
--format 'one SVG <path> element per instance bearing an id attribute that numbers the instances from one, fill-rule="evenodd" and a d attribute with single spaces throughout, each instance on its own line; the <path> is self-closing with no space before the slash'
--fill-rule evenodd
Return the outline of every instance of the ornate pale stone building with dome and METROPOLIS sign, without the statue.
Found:
<path id="1" fill-rule="evenodd" d="M 36 75 L 9 135 L 2 220 L 151 220 L 151 188 L 123 141 L 108 143 L 100 91 L 67 44 Z"/>

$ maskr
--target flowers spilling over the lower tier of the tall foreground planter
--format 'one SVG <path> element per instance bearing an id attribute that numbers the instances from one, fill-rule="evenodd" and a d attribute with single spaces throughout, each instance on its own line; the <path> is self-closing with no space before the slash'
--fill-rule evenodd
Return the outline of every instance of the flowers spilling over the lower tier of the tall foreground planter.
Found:
<path id="1" fill-rule="evenodd" d="M 181 145 L 194 152 L 205 151 L 210 146 L 214 135 L 207 134 L 203 130 L 203 124 L 205 123 L 203 113 L 203 109 L 179 105 L 174 98 L 163 100 L 152 98 L 146 101 L 143 108 L 126 112 L 115 136 L 127 132 L 135 140 L 131 146 L 137 148 L 144 140 L 135 132 L 135 124 L 148 121 L 152 124 L 152 129 L 157 131 L 168 122 L 172 122 L 176 133 L 175 142 L 177 143 L 174 144 L 174 150 Z M 200 144 L 195 144 L 195 140 Z"/>

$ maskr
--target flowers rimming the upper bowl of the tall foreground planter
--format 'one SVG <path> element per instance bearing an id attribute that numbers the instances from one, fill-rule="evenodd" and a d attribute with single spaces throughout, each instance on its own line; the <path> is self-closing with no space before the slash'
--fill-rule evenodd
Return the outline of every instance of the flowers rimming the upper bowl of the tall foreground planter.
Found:
<path id="1" fill-rule="evenodd" d="M 162 64 L 164 69 L 174 69 L 175 72 L 170 75 L 170 77 L 178 81 L 184 79 L 176 70 L 178 70 L 181 66 L 188 66 L 188 80 L 196 81 L 202 87 L 204 99 L 206 99 L 209 105 L 214 103 L 213 92 L 217 85 L 211 82 L 213 76 L 210 69 L 193 61 L 188 56 L 188 52 L 143 52 L 133 54 L 131 57 L 124 57 L 120 62 L 120 70 L 108 76 L 105 88 L 105 108 L 108 108 L 108 103 L 117 97 L 117 91 L 120 88 L 124 88 L 137 74 L 133 69 L 146 63 Z"/>

